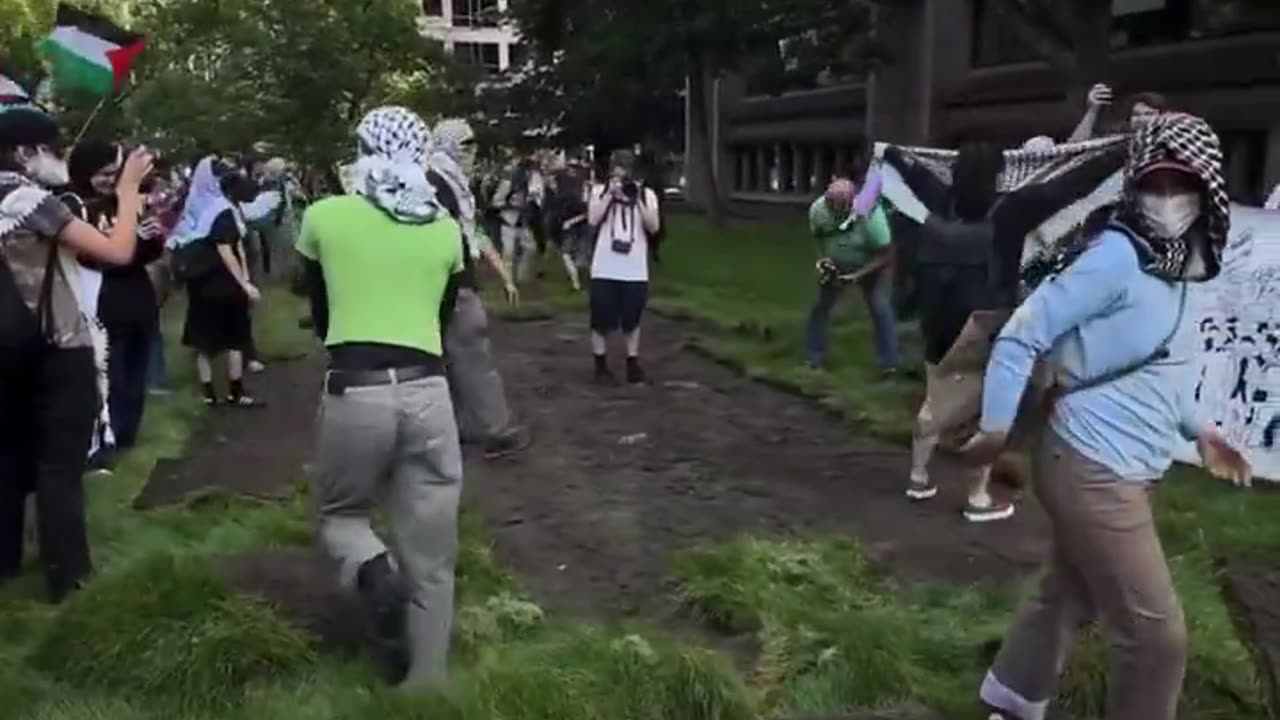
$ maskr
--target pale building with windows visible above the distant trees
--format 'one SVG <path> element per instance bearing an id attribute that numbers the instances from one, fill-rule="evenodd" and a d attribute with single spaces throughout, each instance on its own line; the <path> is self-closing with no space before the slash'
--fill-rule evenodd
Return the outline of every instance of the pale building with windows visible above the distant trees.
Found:
<path id="1" fill-rule="evenodd" d="M 525 64 L 520 36 L 503 20 L 508 0 L 422 0 L 422 35 L 465 63 L 498 73 Z"/>

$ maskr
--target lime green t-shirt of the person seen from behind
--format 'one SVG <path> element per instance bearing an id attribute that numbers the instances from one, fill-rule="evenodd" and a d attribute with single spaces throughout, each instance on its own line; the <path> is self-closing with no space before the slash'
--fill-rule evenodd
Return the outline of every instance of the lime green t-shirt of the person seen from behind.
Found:
<path id="1" fill-rule="evenodd" d="M 415 225 L 358 195 L 329 197 L 307 209 L 297 247 L 324 269 L 325 345 L 375 342 L 443 355 L 440 300 L 462 270 L 462 233 L 447 214 Z"/>

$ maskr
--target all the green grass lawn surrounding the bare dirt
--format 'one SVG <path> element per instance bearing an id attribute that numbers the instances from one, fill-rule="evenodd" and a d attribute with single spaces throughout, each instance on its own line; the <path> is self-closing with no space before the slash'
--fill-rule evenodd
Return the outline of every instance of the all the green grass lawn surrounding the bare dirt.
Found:
<path id="1" fill-rule="evenodd" d="M 813 300 L 812 243 L 796 224 L 712 233 L 676 219 L 655 270 L 655 305 L 708 322 L 705 348 L 840 409 L 851 428 L 904 441 L 920 388 L 881 380 L 860 301 L 837 314 L 833 370 L 801 368 Z M 521 315 L 582 305 L 558 266 Z M 497 307 L 497 304 L 492 304 Z M 257 318 L 268 356 L 311 347 L 303 314 L 273 292 Z M 168 314 L 177 327 L 175 309 Z M 904 331 L 910 338 L 910 332 Z M 169 337 L 177 337 L 170 332 Z M 453 684 L 431 697 L 383 689 L 374 670 L 316 646 L 269 607 L 237 597 L 216 559 L 311 539 L 306 489 L 287 503 L 212 497 L 136 512 L 157 457 L 177 456 L 204 409 L 178 348 L 179 392 L 152 398 L 145 442 L 110 478 L 92 478 L 99 577 L 59 609 L 35 574 L 0 591 L 0 720 L 737 720 L 923 705 L 974 717 L 973 693 L 1016 600 L 969 588 L 902 588 L 852 538 L 741 538 L 676 560 L 682 600 L 719 630 L 750 633 L 745 671 L 643 626 L 544 618 L 465 516 Z M 1192 632 L 1184 717 L 1265 715 L 1254 669 L 1217 587 L 1221 552 L 1268 553 L 1280 496 L 1236 493 L 1180 470 L 1160 523 Z M 1066 682 L 1074 716 L 1101 715 L 1102 648 L 1079 643 Z"/>

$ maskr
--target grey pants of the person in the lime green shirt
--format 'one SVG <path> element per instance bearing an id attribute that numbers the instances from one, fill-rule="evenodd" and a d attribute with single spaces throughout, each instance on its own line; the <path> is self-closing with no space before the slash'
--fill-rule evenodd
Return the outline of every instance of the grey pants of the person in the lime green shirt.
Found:
<path id="1" fill-rule="evenodd" d="M 362 564 L 387 552 L 370 527 L 381 505 L 392 556 L 408 588 L 408 685 L 443 679 L 453 626 L 462 450 L 444 378 L 325 395 L 316 493 L 320 536 L 353 587 Z"/>

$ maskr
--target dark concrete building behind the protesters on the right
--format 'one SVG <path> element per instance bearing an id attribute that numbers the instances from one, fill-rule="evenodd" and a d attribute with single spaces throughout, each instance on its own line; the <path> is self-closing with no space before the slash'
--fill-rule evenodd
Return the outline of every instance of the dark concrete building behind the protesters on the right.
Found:
<path id="1" fill-rule="evenodd" d="M 1210 119 L 1224 141 L 1229 188 L 1261 202 L 1280 182 L 1280 3 L 1245 10 L 1233 0 L 1114 0 L 1108 82 L 1117 95 L 1158 91 Z M 867 138 L 954 146 L 965 137 L 1020 143 L 1065 138 L 1070 108 L 1048 63 L 1020 42 L 984 0 L 904 0 L 878 18 L 893 49 L 864 82 L 781 96 L 744 78 L 714 83 L 713 172 L 726 200 L 800 204 L 863 163 Z M 1119 99 L 1117 99 L 1119 101 Z M 687 149 L 698 167 L 695 147 Z M 696 202 L 699 183 L 690 182 Z"/>

